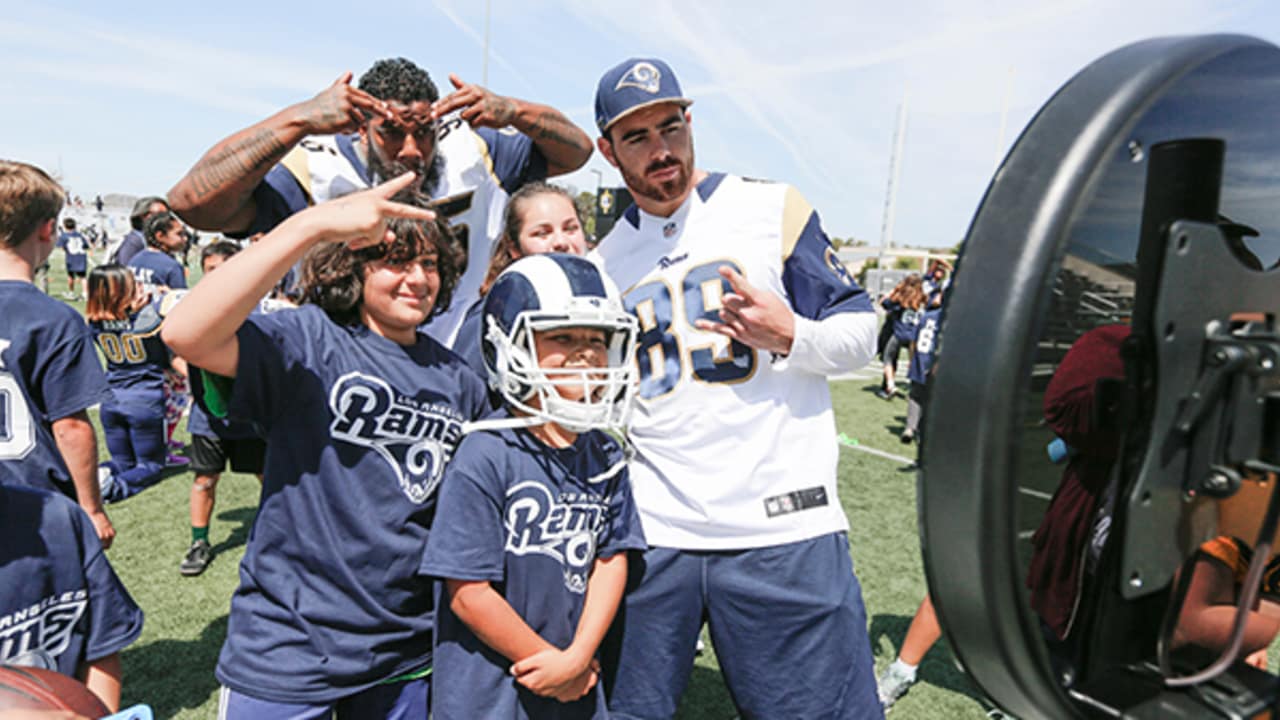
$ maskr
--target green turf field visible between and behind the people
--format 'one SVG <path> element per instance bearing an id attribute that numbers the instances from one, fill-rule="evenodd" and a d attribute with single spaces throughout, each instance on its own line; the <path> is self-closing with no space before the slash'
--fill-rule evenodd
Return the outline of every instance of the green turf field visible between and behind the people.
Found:
<path id="1" fill-rule="evenodd" d="M 193 263 L 196 258 L 192 252 Z M 50 259 L 50 268 L 51 293 L 60 297 L 67 287 L 60 252 Z M 83 302 L 72 305 L 83 310 Z M 860 448 L 914 456 L 915 446 L 897 439 L 906 401 L 876 398 L 876 380 L 869 378 L 870 373 L 865 379 L 832 383 L 838 430 Z M 179 429 L 179 437 L 186 437 L 184 429 Z M 105 457 L 105 448 L 101 452 Z M 216 557 L 204 575 L 184 578 L 178 574 L 178 562 L 191 541 L 191 478 L 189 471 L 178 473 L 108 509 L 118 532 L 108 556 L 146 612 L 142 637 L 123 653 L 124 705 L 150 703 L 156 717 L 215 716 L 214 665 L 257 501 L 253 477 L 223 475 L 210 529 Z M 852 528 L 850 544 L 863 584 L 877 669 L 882 669 L 896 656 L 925 591 L 915 521 L 915 471 L 902 460 L 846 448 L 841 452 L 840 492 Z M 956 669 L 945 641 L 925 657 L 919 678 L 893 716 L 984 717 L 989 706 Z M 708 652 L 698 659 L 678 716 L 728 720 L 735 715 L 708 644 Z"/>

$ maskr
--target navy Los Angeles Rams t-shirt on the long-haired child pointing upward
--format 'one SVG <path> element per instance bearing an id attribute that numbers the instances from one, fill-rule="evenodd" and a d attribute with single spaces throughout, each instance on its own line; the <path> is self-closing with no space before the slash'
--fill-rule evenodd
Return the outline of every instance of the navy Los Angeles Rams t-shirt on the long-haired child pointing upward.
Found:
<path id="1" fill-rule="evenodd" d="M 421 333 L 401 346 L 314 305 L 250 316 L 238 338 L 228 415 L 268 450 L 218 679 L 317 703 L 428 666 L 419 564 L 444 465 L 485 406 L 479 378 Z"/>

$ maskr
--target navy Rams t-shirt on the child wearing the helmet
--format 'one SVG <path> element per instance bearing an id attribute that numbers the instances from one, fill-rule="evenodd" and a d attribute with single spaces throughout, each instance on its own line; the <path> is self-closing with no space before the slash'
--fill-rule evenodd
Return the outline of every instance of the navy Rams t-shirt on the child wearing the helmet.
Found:
<path id="1" fill-rule="evenodd" d="M 422 571 L 490 582 L 543 639 L 568 647 L 595 559 L 646 547 L 626 469 L 608 473 L 621 460 L 598 430 L 566 448 L 524 429 L 468 434 L 445 473 Z M 535 696 L 448 603 L 436 625 L 435 717 L 607 716 L 600 684 L 571 703 Z"/>

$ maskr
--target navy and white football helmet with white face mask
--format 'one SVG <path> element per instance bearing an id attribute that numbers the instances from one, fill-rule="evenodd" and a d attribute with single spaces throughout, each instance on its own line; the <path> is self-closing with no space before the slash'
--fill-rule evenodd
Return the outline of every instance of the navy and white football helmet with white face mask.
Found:
<path id="1" fill-rule="evenodd" d="M 617 287 L 590 260 L 563 254 L 517 260 L 489 288 L 481 322 L 489 387 L 525 415 L 502 424 L 553 421 L 573 432 L 626 428 L 637 384 L 631 361 L 637 325 Z M 604 331 L 605 366 L 539 366 L 534 333 L 581 327 Z M 562 397 L 557 387 L 564 386 L 580 386 L 582 400 Z"/>

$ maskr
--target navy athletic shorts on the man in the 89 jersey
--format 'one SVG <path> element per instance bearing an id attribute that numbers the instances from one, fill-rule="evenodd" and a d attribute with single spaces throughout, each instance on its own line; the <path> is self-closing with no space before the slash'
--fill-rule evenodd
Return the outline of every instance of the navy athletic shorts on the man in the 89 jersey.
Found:
<path id="1" fill-rule="evenodd" d="M 611 717 L 676 714 L 704 621 L 742 717 L 883 717 L 845 533 L 641 557 L 602 651 Z"/>

